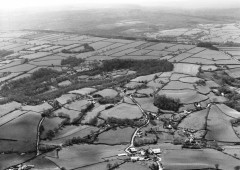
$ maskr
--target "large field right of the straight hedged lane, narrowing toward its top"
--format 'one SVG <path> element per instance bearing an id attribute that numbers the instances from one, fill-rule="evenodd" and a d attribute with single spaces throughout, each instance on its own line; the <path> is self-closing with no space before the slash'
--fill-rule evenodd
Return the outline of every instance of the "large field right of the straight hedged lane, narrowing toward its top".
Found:
<path id="1" fill-rule="evenodd" d="M 216 141 L 240 142 L 232 129 L 231 119 L 231 117 L 222 113 L 217 106 L 212 106 L 207 121 L 209 131 L 206 138 Z"/>

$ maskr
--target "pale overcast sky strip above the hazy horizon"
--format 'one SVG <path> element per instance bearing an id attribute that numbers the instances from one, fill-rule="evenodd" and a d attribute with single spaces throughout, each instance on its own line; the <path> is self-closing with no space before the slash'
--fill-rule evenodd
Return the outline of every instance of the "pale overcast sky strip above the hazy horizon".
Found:
<path id="1" fill-rule="evenodd" d="M 232 8 L 240 7 L 240 0 L 2 0 L 0 10 L 52 7 L 106 7 L 107 5 L 134 4 L 173 8 Z"/>

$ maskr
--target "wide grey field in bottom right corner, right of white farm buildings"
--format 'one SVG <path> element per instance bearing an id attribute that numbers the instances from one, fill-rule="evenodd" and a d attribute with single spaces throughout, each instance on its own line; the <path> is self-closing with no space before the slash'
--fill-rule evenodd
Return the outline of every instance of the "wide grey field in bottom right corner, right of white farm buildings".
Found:
<path id="1" fill-rule="evenodd" d="M 215 168 L 215 164 L 218 164 L 220 169 L 230 170 L 239 165 L 239 160 L 213 149 L 183 149 L 166 150 L 162 163 L 167 169 Z"/>

